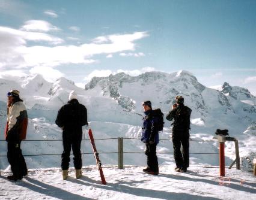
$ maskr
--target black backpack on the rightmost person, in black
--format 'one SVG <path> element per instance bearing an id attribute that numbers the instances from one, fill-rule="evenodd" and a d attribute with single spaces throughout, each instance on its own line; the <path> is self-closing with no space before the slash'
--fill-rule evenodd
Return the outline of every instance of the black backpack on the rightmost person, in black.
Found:
<path id="1" fill-rule="evenodd" d="M 178 107 L 174 117 L 174 126 L 180 129 L 190 129 L 190 114 L 191 109 L 189 107 Z"/>

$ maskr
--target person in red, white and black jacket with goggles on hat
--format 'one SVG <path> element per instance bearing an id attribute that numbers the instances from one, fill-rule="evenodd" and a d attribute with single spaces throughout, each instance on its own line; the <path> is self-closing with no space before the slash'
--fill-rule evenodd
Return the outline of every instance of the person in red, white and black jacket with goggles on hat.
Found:
<path id="1" fill-rule="evenodd" d="M 18 90 L 11 90 L 7 93 L 7 124 L 5 128 L 5 140 L 7 141 L 7 158 L 11 165 L 9 180 L 21 180 L 28 175 L 25 159 L 20 149 L 20 143 L 26 138 L 28 126 L 28 114 L 25 105 L 20 99 Z"/>

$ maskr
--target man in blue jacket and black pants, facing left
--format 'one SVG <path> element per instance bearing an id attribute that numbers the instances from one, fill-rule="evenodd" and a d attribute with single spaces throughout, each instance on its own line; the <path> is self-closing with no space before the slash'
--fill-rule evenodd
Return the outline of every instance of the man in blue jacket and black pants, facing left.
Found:
<path id="1" fill-rule="evenodd" d="M 156 146 L 159 143 L 158 119 L 153 116 L 150 101 L 144 101 L 142 106 L 145 117 L 143 117 L 141 141 L 146 145 L 145 154 L 147 155 L 147 168 L 143 169 L 143 171 L 148 174 L 157 175 L 159 173 L 156 156 Z"/>

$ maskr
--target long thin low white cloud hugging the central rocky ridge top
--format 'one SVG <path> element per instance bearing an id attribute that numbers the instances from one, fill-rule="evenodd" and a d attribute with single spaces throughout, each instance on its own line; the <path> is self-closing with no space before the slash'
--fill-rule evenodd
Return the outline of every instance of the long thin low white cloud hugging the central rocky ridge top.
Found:
<path id="1" fill-rule="evenodd" d="M 106 70 L 96 69 L 96 70 L 92 71 L 90 74 L 88 74 L 87 77 L 84 78 L 84 81 L 89 82 L 91 80 L 91 78 L 93 78 L 93 77 L 108 77 L 110 74 L 118 74 L 121 72 L 124 72 L 131 76 L 137 76 L 137 75 L 143 74 L 145 72 L 155 71 L 155 70 L 156 69 L 154 69 L 152 67 L 145 67 L 142 69 L 135 69 L 135 70 L 118 69 L 117 71 L 111 71 L 110 69 L 106 69 Z"/>

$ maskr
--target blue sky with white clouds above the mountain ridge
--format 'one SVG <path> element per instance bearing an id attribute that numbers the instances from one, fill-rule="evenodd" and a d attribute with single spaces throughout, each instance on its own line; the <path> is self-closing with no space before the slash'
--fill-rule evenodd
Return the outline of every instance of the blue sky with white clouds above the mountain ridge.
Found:
<path id="1" fill-rule="evenodd" d="M 1 77 L 192 72 L 256 95 L 256 1 L 0 0 Z"/>

